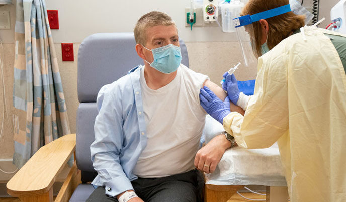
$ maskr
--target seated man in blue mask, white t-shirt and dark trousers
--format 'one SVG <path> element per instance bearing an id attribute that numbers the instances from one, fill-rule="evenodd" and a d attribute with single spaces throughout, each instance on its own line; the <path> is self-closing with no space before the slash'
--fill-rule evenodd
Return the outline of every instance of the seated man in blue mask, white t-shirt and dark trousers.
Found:
<path id="1" fill-rule="evenodd" d="M 134 35 L 144 66 L 98 95 L 91 145 L 98 188 L 88 201 L 200 201 L 204 179 L 196 167 L 213 172 L 231 146 L 221 134 L 198 151 L 206 117 L 200 89 L 227 96 L 208 76 L 180 63 L 178 31 L 168 15 L 145 14 Z"/>

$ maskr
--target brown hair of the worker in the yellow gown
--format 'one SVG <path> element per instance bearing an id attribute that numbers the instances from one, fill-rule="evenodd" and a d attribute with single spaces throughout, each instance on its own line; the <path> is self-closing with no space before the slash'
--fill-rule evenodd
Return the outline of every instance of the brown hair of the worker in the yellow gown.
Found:
<path id="1" fill-rule="evenodd" d="M 253 15 L 270 9 L 274 9 L 280 6 L 289 4 L 289 0 L 249 0 L 248 3 L 241 11 L 241 16 Z M 303 27 L 305 16 L 296 15 L 293 12 L 287 12 L 272 18 L 265 19 L 268 22 L 268 40 L 267 45 L 269 50 L 274 48 L 283 39 L 290 36 L 295 30 Z M 261 53 L 261 38 L 262 31 L 260 21 L 252 23 L 253 33 L 249 33 L 251 36 L 253 52 L 257 57 L 262 55 Z"/>

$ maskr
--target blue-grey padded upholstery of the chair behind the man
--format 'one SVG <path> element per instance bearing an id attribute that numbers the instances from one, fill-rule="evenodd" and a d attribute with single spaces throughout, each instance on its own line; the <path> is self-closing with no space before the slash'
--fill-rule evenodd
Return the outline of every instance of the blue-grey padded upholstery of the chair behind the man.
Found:
<path id="1" fill-rule="evenodd" d="M 133 33 L 97 33 L 85 38 L 78 51 L 78 100 L 76 162 L 83 184 L 73 192 L 69 201 L 85 201 L 93 192 L 91 182 L 97 175 L 93 168 L 90 145 L 95 140 L 94 123 L 98 114 L 96 98 L 102 86 L 127 74 L 142 64 L 135 51 Z M 186 45 L 180 41 L 182 64 L 189 67 Z"/>

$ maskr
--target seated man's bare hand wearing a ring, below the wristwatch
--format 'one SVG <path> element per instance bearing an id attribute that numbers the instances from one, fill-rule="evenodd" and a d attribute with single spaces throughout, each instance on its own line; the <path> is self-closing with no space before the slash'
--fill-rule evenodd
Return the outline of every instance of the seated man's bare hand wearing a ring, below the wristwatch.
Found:
<path id="1" fill-rule="evenodd" d="M 229 147 L 231 147 L 231 142 L 226 139 L 224 134 L 214 137 L 198 150 L 194 161 L 196 168 L 207 174 L 213 173 L 225 150 Z"/>

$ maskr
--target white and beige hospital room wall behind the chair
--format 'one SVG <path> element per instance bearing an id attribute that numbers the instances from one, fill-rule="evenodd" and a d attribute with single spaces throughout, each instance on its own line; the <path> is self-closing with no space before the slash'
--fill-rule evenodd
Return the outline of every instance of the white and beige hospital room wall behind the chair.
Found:
<path id="1" fill-rule="evenodd" d="M 121 4 L 118 2 L 119 1 L 114 0 L 46 0 L 47 9 L 56 9 L 59 11 L 60 29 L 52 30 L 52 35 L 72 133 L 76 132 L 76 112 L 78 107 L 78 48 L 83 39 L 93 33 L 132 32 L 140 16 L 152 10 L 162 11 L 175 20 L 179 36 L 185 41 L 188 48 L 190 68 L 194 71 L 208 75 L 213 82 L 218 84 L 222 79 L 222 74 L 227 71 L 230 66 L 236 64 L 238 61 L 243 64 L 243 59 L 239 52 L 239 44 L 236 42 L 236 37 L 233 33 L 222 33 L 219 27 L 195 27 L 192 31 L 190 28 L 185 27 L 184 8 L 189 7 L 190 1 L 188 0 L 133 0 L 121 1 Z M 304 1 L 304 5 L 311 5 L 311 2 L 311 0 Z M 321 0 L 320 16 L 324 15 L 327 22 L 329 22 L 329 12 L 331 8 L 329 5 L 335 5 L 336 3 L 337 0 Z M 4 10 L 10 10 L 11 13 L 12 29 L 0 30 L 0 39 L 3 41 L 4 47 L 4 77 L 8 105 L 7 110 L 11 112 L 15 54 L 15 4 L 0 7 L 0 11 Z M 73 43 L 74 62 L 62 61 L 62 42 Z M 130 69 L 131 67 L 127 68 Z M 249 67 L 242 66 L 235 72 L 235 75 L 238 80 L 254 79 L 256 70 L 257 66 L 255 61 L 253 61 L 250 63 Z M 2 111 L 2 105 L 0 105 L 0 112 Z M 5 125 L 5 132 L 3 136 L 0 137 L 0 166 L 2 165 L 1 159 L 12 158 L 13 152 L 13 134 L 10 128 Z"/>

